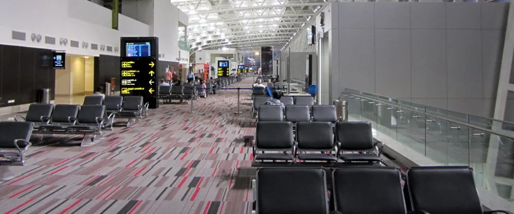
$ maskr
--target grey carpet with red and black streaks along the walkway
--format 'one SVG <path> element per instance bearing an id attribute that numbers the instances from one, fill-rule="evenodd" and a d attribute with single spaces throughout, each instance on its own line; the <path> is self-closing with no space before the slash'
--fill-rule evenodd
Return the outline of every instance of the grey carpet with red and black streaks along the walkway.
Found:
<path id="1" fill-rule="evenodd" d="M 224 90 L 194 101 L 194 114 L 189 104 L 161 105 L 91 146 L 70 146 L 69 137 L 33 146 L 0 185 L 0 211 L 250 213 L 249 95 L 241 91 L 241 115 L 237 92 Z"/>

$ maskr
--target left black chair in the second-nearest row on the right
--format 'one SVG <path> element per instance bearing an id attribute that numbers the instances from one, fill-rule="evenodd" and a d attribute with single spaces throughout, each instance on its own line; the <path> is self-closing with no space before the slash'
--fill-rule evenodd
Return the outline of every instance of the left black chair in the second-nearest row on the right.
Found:
<path id="1" fill-rule="evenodd" d="M 255 161 L 295 161 L 294 143 L 291 122 L 257 122 L 252 148 L 253 159 Z M 258 151 L 262 153 L 257 153 Z M 265 153 L 265 151 L 282 153 Z"/>

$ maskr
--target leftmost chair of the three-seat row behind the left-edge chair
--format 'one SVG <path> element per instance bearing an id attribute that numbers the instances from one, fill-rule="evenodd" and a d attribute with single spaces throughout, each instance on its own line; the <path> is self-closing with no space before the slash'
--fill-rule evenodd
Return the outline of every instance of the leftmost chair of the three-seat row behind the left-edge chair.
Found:
<path id="1" fill-rule="evenodd" d="M 29 105 L 29 110 L 25 117 L 15 115 L 14 120 L 33 122 L 35 126 L 39 126 L 41 124 L 48 124 L 52 113 L 52 104 L 32 103 Z"/>

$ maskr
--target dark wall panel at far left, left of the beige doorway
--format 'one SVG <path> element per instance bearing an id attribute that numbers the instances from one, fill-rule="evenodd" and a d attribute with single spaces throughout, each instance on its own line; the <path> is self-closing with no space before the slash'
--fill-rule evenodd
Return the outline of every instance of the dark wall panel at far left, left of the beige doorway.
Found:
<path id="1" fill-rule="evenodd" d="M 50 88 L 50 98 L 54 99 L 51 56 L 48 49 L 0 45 L 0 107 L 36 102 L 41 88 Z"/>

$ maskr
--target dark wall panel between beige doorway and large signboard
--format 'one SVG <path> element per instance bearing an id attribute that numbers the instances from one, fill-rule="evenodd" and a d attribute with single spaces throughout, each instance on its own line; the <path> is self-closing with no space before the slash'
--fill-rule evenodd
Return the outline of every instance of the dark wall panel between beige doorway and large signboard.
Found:
<path id="1" fill-rule="evenodd" d="M 95 90 L 98 85 L 111 82 L 111 78 L 116 79 L 115 91 L 120 90 L 120 57 L 100 55 L 95 57 Z"/>

